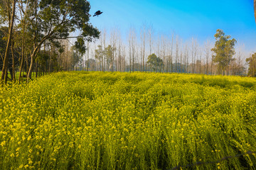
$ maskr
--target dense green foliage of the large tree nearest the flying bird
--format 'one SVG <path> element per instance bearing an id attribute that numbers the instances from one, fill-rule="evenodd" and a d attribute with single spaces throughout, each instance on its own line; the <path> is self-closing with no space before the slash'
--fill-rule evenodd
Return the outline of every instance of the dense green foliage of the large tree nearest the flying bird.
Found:
<path id="1" fill-rule="evenodd" d="M 31 3 L 36 2 L 32 1 Z M 39 7 L 37 9 L 38 23 L 35 26 L 32 24 L 32 29 L 36 29 L 38 34 L 48 33 L 51 40 L 68 38 L 70 32 L 80 30 L 80 36 L 75 45 L 81 54 L 85 52 L 84 41 L 91 41 L 92 38 L 97 38 L 100 34 L 88 23 L 90 3 L 86 0 L 41 0 L 36 5 Z"/>

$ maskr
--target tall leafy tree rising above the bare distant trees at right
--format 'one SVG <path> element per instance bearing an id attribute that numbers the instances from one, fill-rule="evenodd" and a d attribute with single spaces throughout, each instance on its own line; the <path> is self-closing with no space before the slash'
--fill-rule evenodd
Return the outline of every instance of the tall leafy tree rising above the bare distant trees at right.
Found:
<path id="1" fill-rule="evenodd" d="M 235 55 L 235 43 L 237 42 L 234 38 L 230 40 L 230 35 L 225 35 L 223 30 L 218 29 L 215 37 L 215 47 L 211 50 L 213 51 L 213 62 L 218 63 L 218 72 L 220 74 L 225 73 L 226 67 L 233 60 L 233 55 Z"/>

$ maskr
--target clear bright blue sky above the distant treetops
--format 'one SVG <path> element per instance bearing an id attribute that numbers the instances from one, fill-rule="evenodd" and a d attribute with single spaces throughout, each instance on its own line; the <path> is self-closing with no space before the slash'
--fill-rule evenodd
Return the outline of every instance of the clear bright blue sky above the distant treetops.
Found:
<path id="1" fill-rule="evenodd" d="M 217 29 L 256 52 L 256 23 L 253 0 L 88 0 L 93 15 L 90 22 L 99 29 L 117 27 L 123 34 L 129 28 L 151 24 L 155 33 L 173 30 L 183 40 L 214 40 Z"/>

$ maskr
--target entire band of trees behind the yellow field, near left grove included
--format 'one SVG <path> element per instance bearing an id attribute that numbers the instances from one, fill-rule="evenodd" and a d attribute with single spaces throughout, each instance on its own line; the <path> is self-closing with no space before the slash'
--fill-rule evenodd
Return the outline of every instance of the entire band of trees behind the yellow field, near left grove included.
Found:
<path id="1" fill-rule="evenodd" d="M 28 81 L 32 73 L 70 70 L 255 77 L 255 53 L 246 55 L 223 30 L 217 30 L 215 42 L 203 45 L 146 25 L 130 28 L 124 38 L 117 28 L 94 28 L 89 11 L 88 1 L 1 0 L 1 80 Z"/>

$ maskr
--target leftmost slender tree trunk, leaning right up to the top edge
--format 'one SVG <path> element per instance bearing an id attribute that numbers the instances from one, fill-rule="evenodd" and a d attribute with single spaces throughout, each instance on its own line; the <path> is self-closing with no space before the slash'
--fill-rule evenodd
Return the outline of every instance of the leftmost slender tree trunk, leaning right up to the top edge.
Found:
<path id="1" fill-rule="evenodd" d="M 12 31 L 14 28 L 14 16 L 15 16 L 15 5 L 16 5 L 16 0 L 13 0 L 12 4 L 12 12 L 11 12 L 11 23 L 9 27 L 9 35 L 8 35 L 8 40 L 7 40 L 7 45 L 6 45 L 6 52 L 4 54 L 4 64 L 3 64 L 3 69 L 2 69 L 2 75 L 1 75 L 1 81 L 5 80 L 5 83 L 7 83 L 7 69 L 8 69 L 8 61 L 9 61 L 9 49 L 11 45 L 11 38 L 12 38 Z"/>

